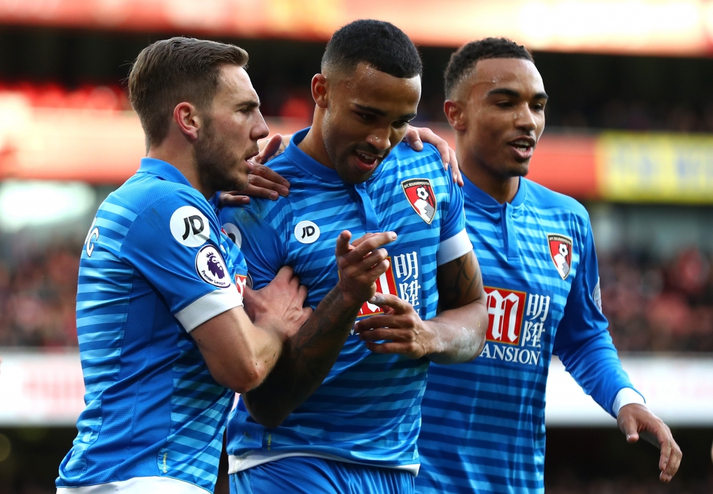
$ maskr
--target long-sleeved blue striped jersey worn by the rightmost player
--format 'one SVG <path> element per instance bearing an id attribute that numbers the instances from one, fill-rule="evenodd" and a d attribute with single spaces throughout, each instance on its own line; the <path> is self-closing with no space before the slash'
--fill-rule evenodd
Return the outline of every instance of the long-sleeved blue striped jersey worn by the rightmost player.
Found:
<path id="1" fill-rule="evenodd" d="M 431 365 L 416 492 L 543 493 L 545 384 L 553 353 L 612 413 L 631 388 L 601 312 L 589 215 L 525 178 L 498 204 L 466 178 L 466 228 L 488 293 L 481 356 Z"/>

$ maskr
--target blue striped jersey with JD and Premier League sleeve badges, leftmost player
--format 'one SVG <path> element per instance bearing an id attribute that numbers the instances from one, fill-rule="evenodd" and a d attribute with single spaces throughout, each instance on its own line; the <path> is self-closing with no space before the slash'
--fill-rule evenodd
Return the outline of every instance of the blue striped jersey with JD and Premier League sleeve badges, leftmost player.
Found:
<path id="1" fill-rule="evenodd" d="M 81 254 L 86 408 L 58 488 L 163 477 L 212 493 L 234 393 L 189 333 L 242 305 L 246 275 L 215 211 L 169 163 L 143 158 L 106 198 Z"/>

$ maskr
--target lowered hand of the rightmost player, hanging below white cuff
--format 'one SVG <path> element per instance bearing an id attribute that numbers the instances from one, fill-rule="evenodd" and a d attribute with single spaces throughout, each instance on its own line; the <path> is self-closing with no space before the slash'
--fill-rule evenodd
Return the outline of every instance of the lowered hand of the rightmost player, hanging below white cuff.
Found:
<path id="1" fill-rule="evenodd" d="M 659 458 L 659 478 L 662 482 L 670 482 L 681 464 L 681 448 L 678 447 L 671 435 L 671 429 L 663 420 L 650 412 L 645 406 L 637 403 L 624 405 L 617 414 L 617 425 L 625 433 L 629 443 L 636 443 L 639 437 L 646 438 L 652 435 L 658 447 L 661 448 Z"/>

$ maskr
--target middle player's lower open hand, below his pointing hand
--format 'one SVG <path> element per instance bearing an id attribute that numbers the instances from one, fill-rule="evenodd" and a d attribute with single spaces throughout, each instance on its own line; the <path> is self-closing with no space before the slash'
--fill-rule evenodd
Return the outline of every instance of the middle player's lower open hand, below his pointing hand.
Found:
<path id="1" fill-rule="evenodd" d="M 410 303 L 395 295 L 376 293 L 369 303 L 381 307 L 383 315 L 371 316 L 354 325 L 354 333 L 374 353 L 399 353 L 421 358 L 431 353 L 435 341 L 428 323 L 421 320 Z M 388 340 L 386 343 L 375 341 Z"/>

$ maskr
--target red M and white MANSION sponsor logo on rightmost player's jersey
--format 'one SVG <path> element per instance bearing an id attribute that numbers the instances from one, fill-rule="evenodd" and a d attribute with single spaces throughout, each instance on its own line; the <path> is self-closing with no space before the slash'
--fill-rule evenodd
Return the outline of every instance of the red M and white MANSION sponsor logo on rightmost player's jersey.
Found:
<path id="1" fill-rule="evenodd" d="M 550 296 L 492 286 L 483 288 L 488 295 L 488 331 L 481 358 L 538 365 Z"/>

